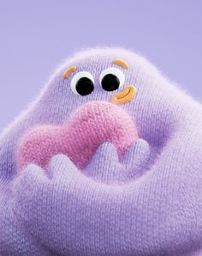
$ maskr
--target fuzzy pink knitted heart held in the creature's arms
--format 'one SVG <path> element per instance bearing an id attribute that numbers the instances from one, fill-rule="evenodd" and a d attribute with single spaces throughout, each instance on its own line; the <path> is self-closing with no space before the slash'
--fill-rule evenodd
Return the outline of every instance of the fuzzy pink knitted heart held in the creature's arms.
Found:
<path id="1" fill-rule="evenodd" d="M 121 107 L 91 101 L 78 107 L 64 125 L 39 125 L 22 138 L 18 149 L 19 170 L 29 163 L 45 168 L 56 154 L 68 157 L 82 169 L 101 143 L 116 145 L 119 157 L 138 138 L 133 120 Z"/>

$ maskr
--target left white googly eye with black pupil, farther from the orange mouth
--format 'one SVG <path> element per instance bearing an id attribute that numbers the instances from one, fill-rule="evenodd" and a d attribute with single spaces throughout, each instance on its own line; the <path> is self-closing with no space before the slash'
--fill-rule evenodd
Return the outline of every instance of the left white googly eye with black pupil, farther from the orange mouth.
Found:
<path id="1" fill-rule="evenodd" d="M 94 89 L 92 74 L 86 71 L 76 73 L 71 81 L 71 89 L 74 94 L 80 94 L 81 96 L 91 94 Z"/>

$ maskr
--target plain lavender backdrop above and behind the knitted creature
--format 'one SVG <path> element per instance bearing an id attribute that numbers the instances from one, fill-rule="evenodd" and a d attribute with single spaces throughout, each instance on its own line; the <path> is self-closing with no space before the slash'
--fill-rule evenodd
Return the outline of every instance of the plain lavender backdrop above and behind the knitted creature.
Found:
<path id="1" fill-rule="evenodd" d="M 0 0 L 0 131 L 63 59 L 89 46 L 140 52 L 202 101 L 202 1 Z"/>

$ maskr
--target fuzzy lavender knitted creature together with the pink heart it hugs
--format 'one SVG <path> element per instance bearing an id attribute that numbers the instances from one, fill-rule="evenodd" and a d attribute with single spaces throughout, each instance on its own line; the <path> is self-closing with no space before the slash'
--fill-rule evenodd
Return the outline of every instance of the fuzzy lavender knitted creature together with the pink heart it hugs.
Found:
<path id="1" fill-rule="evenodd" d="M 0 255 L 200 255 L 201 145 L 145 58 L 76 54 L 0 138 Z"/>

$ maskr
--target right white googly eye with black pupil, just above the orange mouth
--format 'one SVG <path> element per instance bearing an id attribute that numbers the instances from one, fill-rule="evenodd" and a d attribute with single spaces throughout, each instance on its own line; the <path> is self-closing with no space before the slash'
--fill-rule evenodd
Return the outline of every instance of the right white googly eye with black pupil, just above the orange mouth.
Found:
<path id="1" fill-rule="evenodd" d="M 125 76 L 122 70 L 116 68 L 108 68 L 103 70 L 99 76 L 99 83 L 106 91 L 114 91 L 122 87 L 125 82 Z"/>

